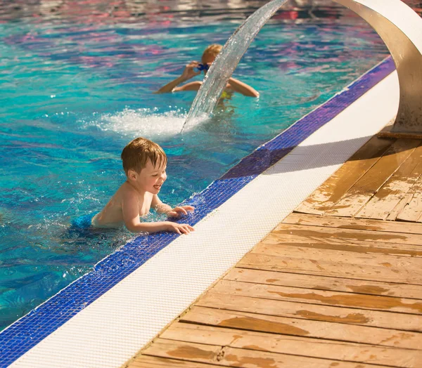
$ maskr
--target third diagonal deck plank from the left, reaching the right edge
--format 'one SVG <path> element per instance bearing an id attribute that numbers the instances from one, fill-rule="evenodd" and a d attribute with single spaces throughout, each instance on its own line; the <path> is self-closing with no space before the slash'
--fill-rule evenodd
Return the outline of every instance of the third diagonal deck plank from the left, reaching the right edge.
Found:
<path id="1" fill-rule="evenodd" d="M 422 146 L 419 146 L 355 217 L 385 220 L 421 175 Z"/>

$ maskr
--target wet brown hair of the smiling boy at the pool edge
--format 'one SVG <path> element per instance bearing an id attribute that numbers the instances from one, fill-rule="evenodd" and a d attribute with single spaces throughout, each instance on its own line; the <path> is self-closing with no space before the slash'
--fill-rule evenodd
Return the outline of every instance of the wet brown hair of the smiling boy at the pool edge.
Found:
<path id="1" fill-rule="evenodd" d="M 160 162 L 160 166 L 167 164 L 167 156 L 162 148 L 152 140 L 146 138 L 135 138 L 122 150 L 123 170 L 126 173 L 134 170 L 140 173 L 146 166 L 148 159 L 151 159 L 153 166 Z"/>

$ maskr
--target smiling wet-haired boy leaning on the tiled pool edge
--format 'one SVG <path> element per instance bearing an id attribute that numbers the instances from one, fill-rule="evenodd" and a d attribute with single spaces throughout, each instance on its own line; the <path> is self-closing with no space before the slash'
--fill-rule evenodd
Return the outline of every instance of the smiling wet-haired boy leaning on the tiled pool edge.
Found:
<path id="1" fill-rule="evenodd" d="M 92 218 L 94 228 L 117 228 L 123 224 L 132 232 L 172 231 L 188 234 L 194 229 L 187 224 L 170 221 L 141 222 L 153 207 L 159 213 L 178 217 L 193 206 L 177 206 L 172 209 L 158 198 L 162 183 L 167 179 L 165 172 L 167 156 L 162 148 L 146 138 L 136 138 L 122 151 L 122 162 L 127 180 L 115 192 L 103 211 Z"/>

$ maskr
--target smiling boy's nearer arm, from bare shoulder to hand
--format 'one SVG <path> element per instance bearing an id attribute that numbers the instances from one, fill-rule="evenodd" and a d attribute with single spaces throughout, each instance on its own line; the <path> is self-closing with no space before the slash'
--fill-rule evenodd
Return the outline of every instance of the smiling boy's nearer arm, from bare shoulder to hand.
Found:
<path id="1" fill-rule="evenodd" d="M 132 232 L 173 231 L 179 234 L 188 234 L 194 230 L 191 225 L 172 223 L 170 221 L 141 223 L 139 220 L 138 196 L 132 191 L 127 191 L 123 195 L 122 213 L 124 225 L 127 230 Z"/>

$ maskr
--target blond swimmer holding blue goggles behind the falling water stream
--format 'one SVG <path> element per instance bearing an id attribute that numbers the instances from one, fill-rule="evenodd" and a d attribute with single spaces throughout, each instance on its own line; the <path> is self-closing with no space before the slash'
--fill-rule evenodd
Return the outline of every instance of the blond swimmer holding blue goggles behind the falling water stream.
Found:
<path id="1" fill-rule="evenodd" d="M 217 55 L 222 50 L 222 48 L 223 46 L 218 44 L 212 44 L 205 48 L 205 51 L 201 58 L 202 63 L 198 63 L 198 61 L 191 61 L 191 63 L 186 65 L 180 77 L 177 77 L 176 79 L 174 79 L 174 81 L 171 81 L 165 86 L 162 86 L 155 93 L 198 91 L 200 86 L 203 84 L 202 81 L 191 81 L 189 83 L 184 84 L 183 86 L 179 86 L 179 84 L 188 81 L 188 79 L 191 79 L 196 75 L 199 75 L 201 71 L 203 71 L 204 74 L 207 74 L 208 69 L 210 69 L 210 65 L 214 62 L 215 58 L 217 58 Z M 254 88 L 234 78 L 229 79 L 226 86 L 226 92 L 238 92 L 242 93 L 244 96 L 260 97 L 260 93 L 255 91 Z"/>

